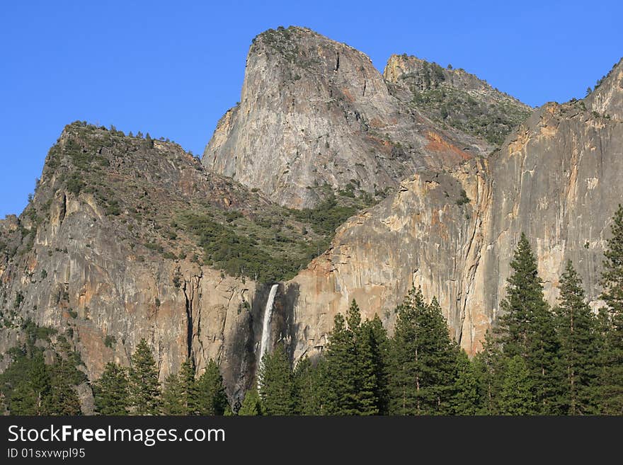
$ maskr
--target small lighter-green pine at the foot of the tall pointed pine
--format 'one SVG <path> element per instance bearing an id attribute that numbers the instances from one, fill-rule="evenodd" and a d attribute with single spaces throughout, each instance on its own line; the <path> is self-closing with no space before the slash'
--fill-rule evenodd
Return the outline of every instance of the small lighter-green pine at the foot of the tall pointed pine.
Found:
<path id="1" fill-rule="evenodd" d="M 532 394 L 530 370 L 520 355 L 508 360 L 500 392 L 499 408 L 502 415 L 534 415 L 537 411 Z"/>

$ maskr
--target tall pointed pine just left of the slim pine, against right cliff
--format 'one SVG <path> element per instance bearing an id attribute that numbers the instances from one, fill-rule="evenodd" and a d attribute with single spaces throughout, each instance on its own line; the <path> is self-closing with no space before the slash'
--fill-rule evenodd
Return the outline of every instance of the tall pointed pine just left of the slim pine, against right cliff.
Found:
<path id="1" fill-rule="evenodd" d="M 497 328 L 503 355 L 519 355 L 525 360 L 535 385 L 539 412 L 560 413 L 563 381 L 557 361 L 554 317 L 543 296 L 537 260 L 523 233 L 510 266 L 514 274 L 508 278 L 507 295 L 501 303 L 503 316 Z"/>

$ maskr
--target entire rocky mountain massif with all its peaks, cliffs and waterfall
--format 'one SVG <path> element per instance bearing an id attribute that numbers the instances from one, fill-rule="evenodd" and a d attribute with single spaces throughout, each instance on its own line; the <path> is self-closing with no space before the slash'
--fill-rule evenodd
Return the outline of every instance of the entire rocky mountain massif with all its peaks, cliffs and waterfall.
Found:
<path id="1" fill-rule="evenodd" d="M 522 233 L 550 304 L 571 259 L 600 306 L 622 176 L 623 61 L 583 100 L 533 109 L 462 69 L 396 54 L 381 74 L 309 29 L 268 30 L 202 159 L 65 127 L 0 220 L 0 371 L 35 338 L 93 380 L 145 339 L 161 381 L 212 359 L 234 402 L 261 350 L 321 352 L 353 299 L 391 333 L 412 285 L 473 355 Z"/>

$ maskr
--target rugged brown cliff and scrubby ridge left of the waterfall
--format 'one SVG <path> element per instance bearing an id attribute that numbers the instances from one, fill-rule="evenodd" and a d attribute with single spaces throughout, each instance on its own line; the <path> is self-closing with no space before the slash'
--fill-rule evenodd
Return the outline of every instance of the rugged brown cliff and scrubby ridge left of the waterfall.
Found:
<path id="1" fill-rule="evenodd" d="M 68 338 L 95 379 L 145 338 L 161 379 L 187 357 L 199 373 L 212 358 L 235 398 L 255 370 L 265 286 L 204 265 L 182 222 L 270 208 L 176 144 L 67 126 L 33 201 L 0 221 L 1 354 L 32 320 L 58 331 L 52 343 Z"/>

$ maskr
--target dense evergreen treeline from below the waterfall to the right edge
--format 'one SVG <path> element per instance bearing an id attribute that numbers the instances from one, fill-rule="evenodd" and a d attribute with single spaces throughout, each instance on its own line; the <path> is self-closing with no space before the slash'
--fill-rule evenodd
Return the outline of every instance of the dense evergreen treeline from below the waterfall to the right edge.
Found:
<path id="1" fill-rule="evenodd" d="M 503 316 L 473 360 L 448 332 L 435 298 L 411 289 L 389 338 L 355 301 L 335 318 L 324 353 L 290 366 L 265 355 L 250 415 L 622 415 L 623 208 L 607 241 L 597 314 L 568 262 L 559 304 L 544 299 L 537 260 L 522 234 L 510 263 Z"/>

